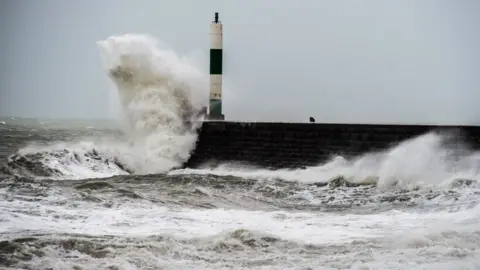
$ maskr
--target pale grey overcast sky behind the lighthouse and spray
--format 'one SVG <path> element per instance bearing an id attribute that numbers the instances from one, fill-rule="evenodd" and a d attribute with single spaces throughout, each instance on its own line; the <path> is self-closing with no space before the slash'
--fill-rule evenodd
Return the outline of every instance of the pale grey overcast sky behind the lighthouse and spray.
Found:
<path id="1" fill-rule="evenodd" d="M 3 0 L 0 115 L 109 117 L 96 41 L 206 58 L 216 11 L 227 119 L 480 124 L 476 0 Z"/>

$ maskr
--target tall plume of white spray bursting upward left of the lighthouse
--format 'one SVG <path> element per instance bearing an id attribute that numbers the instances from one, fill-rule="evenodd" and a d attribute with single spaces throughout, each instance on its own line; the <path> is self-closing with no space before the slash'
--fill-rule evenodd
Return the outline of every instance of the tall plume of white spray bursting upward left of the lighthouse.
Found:
<path id="1" fill-rule="evenodd" d="M 112 36 L 98 46 L 118 90 L 123 131 L 137 161 L 125 163 L 142 173 L 181 164 L 196 141 L 206 74 L 151 36 Z"/>

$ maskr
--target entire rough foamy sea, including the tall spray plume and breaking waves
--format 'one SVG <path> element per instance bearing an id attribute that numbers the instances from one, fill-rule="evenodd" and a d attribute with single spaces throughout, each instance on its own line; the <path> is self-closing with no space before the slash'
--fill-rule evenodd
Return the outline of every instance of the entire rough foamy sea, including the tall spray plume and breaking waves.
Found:
<path id="1" fill-rule="evenodd" d="M 478 153 L 425 134 L 299 170 L 175 169 L 204 75 L 145 36 L 99 48 L 120 125 L 0 119 L 0 266 L 480 269 Z"/>

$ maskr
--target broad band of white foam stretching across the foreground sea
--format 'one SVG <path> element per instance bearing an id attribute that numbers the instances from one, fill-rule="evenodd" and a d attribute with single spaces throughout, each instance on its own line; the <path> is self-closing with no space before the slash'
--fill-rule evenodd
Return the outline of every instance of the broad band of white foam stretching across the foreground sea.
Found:
<path id="1" fill-rule="evenodd" d="M 60 201 L 61 198 L 55 200 Z M 0 223 L 0 233 L 168 234 L 189 238 L 247 229 L 285 240 L 324 245 L 385 237 L 401 240 L 396 236 L 414 235 L 416 232 L 425 235 L 436 233 L 434 230 L 443 232 L 453 228 L 456 232 L 472 231 L 478 229 L 480 221 L 480 205 L 456 212 L 391 210 L 370 215 L 172 209 L 141 201 L 113 208 L 92 208 L 92 204 L 83 202 L 66 206 L 44 204 L 41 208 L 38 205 L 37 201 L 3 200 L 0 207 L 4 222 Z M 28 211 L 35 214 L 25 214 Z"/>

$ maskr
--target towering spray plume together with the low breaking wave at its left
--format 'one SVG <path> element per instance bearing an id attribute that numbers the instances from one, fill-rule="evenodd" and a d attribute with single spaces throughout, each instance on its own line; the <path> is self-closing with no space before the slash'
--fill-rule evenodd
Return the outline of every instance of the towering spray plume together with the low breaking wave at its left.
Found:
<path id="1" fill-rule="evenodd" d="M 197 138 L 206 74 L 147 35 L 112 36 L 98 47 L 117 90 L 122 134 L 33 144 L 11 156 L 4 171 L 82 179 L 160 173 L 186 161 Z"/>

